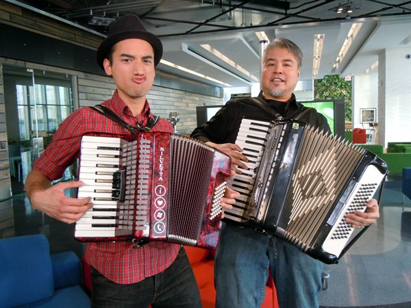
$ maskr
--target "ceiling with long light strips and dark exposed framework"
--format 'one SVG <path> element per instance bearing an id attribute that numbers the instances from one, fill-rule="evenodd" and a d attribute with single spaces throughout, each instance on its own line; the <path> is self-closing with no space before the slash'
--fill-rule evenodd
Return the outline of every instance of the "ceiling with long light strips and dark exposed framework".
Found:
<path id="1" fill-rule="evenodd" d="M 411 54 L 411 1 L 407 0 L 30 0 L 14 1 L 105 35 L 108 25 L 125 14 L 140 16 L 164 44 L 164 70 L 215 86 L 250 86 L 260 75 L 260 39 L 286 37 L 301 47 L 301 80 L 338 74 L 362 75 L 377 65 L 384 49 Z M 352 13 L 336 12 L 351 5 Z M 347 38 L 353 24 L 361 27 Z M 318 75 L 313 77 L 314 36 L 324 34 Z M 333 67 L 345 41 L 351 46 Z M 214 55 L 201 45 L 218 51 Z M 225 61 L 224 61 L 225 59 Z M 229 63 L 231 60 L 231 64 Z M 411 60 L 410 60 L 411 61 Z M 194 72 L 194 74 L 193 74 Z M 195 74 L 206 75 L 204 79 Z M 254 76 L 254 77 L 252 77 Z M 224 83 L 224 84 L 222 84 Z"/>

